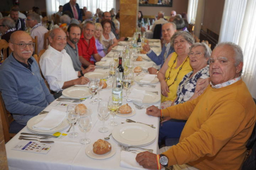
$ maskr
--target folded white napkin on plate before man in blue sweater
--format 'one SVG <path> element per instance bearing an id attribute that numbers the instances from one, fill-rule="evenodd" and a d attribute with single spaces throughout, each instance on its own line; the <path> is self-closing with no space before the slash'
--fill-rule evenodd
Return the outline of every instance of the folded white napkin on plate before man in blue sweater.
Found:
<path id="1" fill-rule="evenodd" d="M 63 119 L 66 118 L 66 113 L 63 111 L 52 109 L 39 123 L 36 123 L 33 129 L 41 129 L 49 131 L 54 127 L 59 126 Z"/>

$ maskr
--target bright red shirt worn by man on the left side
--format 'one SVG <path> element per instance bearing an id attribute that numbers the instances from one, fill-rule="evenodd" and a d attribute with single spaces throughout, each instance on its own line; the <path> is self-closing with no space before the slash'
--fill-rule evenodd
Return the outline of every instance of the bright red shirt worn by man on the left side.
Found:
<path id="1" fill-rule="evenodd" d="M 92 37 L 88 44 L 85 38 L 83 37 L 83 34 L 81 34 L 81 37 L 77 46 L 79 48 L 79 56 L 82 56 L 85 60 L 94 64 L 93 61 L 90 61 L 90 58 L 91 58 L 91 55 L 98 54 L 98 51 L 95 46 L 95 38 Z"/>

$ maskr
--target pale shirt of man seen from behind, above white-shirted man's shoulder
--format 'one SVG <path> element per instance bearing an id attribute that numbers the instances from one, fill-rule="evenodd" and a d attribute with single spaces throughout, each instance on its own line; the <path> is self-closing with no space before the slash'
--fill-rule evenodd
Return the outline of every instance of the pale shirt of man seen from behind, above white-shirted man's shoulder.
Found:
<path id="1" fill-rule="evenodd" d="M 35 36 L 37 36 L 37 54 L 39 54 L 39 52 L 43 49 L 45 33 L 47 32 L 48 30 L 45 28 L 45 26 L 42 26 L 41 23 L 33 26 L 33 28 L 30 30 L 30 36 L 32 36 L 32 38 L 35 39 Z"/>

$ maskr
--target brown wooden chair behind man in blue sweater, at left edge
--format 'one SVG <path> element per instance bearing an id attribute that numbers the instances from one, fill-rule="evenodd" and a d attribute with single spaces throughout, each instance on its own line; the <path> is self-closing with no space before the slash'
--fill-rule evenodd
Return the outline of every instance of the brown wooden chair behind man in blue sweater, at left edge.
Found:
<path id="1" fill-rule="evenodd" d="M 6 110 L 6 106 L 4 105 L 4 100 L 2 100 L 2 95 L 0 92 L 0 114 L 2 119 L 2 129 L 4 129 L 4 140 L 8 142 L 15 134 L 9 132 L 10 124 L 14 119 L 9 111 Z"/>

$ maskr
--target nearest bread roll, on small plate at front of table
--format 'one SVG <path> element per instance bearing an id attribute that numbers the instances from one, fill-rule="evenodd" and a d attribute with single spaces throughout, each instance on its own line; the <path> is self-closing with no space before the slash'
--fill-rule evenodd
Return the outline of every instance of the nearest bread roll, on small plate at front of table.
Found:
<path id="1" fill-rule="evenodd" d="M 93 144 L 93 152 L 98 155 L 103 155 L 111 150 L 111 144 L 106 140 L 99 139 Z"/>

